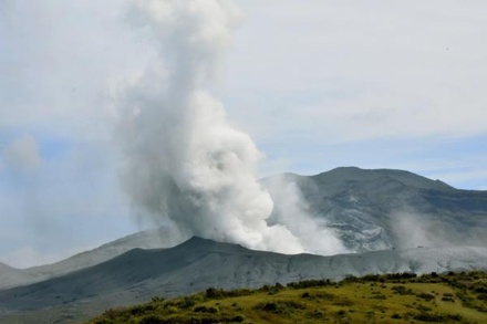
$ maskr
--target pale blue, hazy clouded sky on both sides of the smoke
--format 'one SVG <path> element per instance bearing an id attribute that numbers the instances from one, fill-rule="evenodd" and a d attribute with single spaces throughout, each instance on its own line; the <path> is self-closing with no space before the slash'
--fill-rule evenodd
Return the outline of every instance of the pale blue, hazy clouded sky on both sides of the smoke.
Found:
<path id="1" fill-rule="evenodd" d="M 2 262 L 141 227 L 120 189 L 113 96 L 157 48 L 129 2 L 0 2 Z M 398 168 L 487 189 L 485 1 L 236 3 L 245 19 L 213 92 L 266 155 L 259 176 Z"/>

